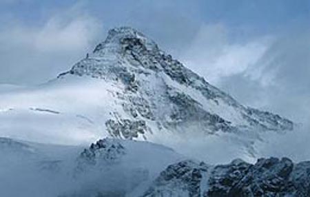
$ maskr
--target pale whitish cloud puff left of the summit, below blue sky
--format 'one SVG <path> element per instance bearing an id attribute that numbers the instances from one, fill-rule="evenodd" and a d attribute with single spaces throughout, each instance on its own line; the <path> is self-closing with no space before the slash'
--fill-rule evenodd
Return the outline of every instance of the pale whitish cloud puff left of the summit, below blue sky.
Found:
<path id="1" fill-rule="evenodd" d="M 76 9 L 56 14 L 39 27 L 10 25 L 0 32 L 1 43 L 32 48 L 38 52 L 61 52 L 85 49 L 99 34 L 99 22 Z"/>

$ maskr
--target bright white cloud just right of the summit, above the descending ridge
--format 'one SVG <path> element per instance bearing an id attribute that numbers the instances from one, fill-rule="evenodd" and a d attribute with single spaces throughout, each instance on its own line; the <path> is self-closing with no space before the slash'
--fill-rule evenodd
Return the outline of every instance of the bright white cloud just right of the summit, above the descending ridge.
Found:
<path id="1" fill-rule="evenodd" d="M 233 42 L 225 25 L 204 24 L 182 56 L 189 68 L 217 84 L 223 77 L 244 72 L 256 63 L 270 42 L 269 37 Z"/>

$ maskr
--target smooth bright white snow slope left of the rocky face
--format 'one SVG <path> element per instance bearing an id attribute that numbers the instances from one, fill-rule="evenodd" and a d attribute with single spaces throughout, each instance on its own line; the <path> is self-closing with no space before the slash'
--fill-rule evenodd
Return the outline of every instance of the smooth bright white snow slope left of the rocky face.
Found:
<path id="1" fill-rule="evenodd" d="M 73 76 L 1 94 L 1 136 L 65 145 L 92 143 L 105 136 L 104 121 L 119 108 L 106 102 L 113 99 L 110 87 Z"/>

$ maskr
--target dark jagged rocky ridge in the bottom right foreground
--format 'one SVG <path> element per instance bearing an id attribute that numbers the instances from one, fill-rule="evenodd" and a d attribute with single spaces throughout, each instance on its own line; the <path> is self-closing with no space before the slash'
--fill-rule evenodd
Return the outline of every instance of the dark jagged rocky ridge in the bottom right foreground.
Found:
<path id="1" fill-rule="evenodd" d="M 207 167 L 193 161 L 169 165 L 143 196 L 309 196 L 310 163 L 260 158 Z M 202 181 L 206 179 L 207 181 Z"/>

